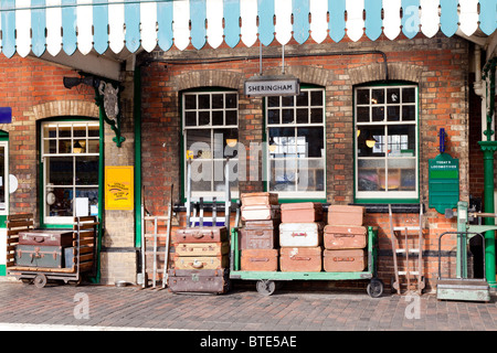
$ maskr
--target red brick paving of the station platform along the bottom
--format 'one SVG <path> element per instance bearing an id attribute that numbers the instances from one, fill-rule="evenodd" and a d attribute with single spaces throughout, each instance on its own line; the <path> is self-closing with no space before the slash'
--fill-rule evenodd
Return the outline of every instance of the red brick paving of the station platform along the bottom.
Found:
<path id="1" fill-rule="evenodd" d="M 0 282 L 0 328 L 9 324 L 34 330 L 495 331 L 497 303 L 495 296 L 488 303 L 440 301 L 430 293 L 374 299 L 366 292 L 284 289 L 265 297 L 247 288 L 211 296 L 139 287 L 49 284 L 39 289 L 7 281 Z"/>

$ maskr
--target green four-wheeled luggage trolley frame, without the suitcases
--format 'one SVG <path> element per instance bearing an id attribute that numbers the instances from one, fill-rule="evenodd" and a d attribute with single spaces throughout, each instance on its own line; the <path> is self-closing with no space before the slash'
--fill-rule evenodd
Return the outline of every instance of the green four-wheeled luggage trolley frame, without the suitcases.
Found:
<path id="1" fill-rule="evenodd" d="M 287 280 L 356 280 L 370 279 L 367 292 L 371 298 L 383 293 L 383 282 L 378 272 L 378 227 L 368 226 L 368 267 L 359 272 L 283 272 L 283 271 L 244 271 L 241 270 L 241 250 L 239 245 L 239 228 L 231 229 L 231 279 L 256 280 L 256 290 L 264 296 L 271 296 L 276 290 L 276 281 Z"/>

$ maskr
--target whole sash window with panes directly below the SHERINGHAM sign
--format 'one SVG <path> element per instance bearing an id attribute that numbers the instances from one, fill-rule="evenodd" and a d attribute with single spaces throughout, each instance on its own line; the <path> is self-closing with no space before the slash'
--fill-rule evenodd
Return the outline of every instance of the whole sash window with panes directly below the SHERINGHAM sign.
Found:
<path id="1" fill-rule="evenodd" d="M 267 189 L 281 199 L 326 197 L 325 90 L 266 98 Z"/>

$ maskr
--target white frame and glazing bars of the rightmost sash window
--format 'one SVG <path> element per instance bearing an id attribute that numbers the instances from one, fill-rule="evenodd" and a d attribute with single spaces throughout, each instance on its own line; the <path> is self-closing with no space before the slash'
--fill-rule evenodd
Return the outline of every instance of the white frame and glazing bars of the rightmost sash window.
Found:
<path id="1" fill-rule="evenodd" d="M 414 101 L 413 103 L 402 103 L 402 97 L 400 98 L 400 104 L 389 104 L 387 100 L 387 90 L 388 89 L 394 89 L 400 88 L 401 95 L 403 88 L 414 88 Z M 358 92 L 360 89 L 370 89 L 370 98 L 372 98 L 371 92 L 372 89 L 384 89 L 384 103 L 383 104 L 374 104 L 371 99 L 370 104 L 358 104 Z M 357 201 L 362 200 L 417 200 L 419 199 L 419 184 L 420 184 L 420 168 L 419 168 L 419 159 L 420 159 L 420 133 L 419 133 L 419 87 L 417 85 L 410 85 L 410 84 L 399 84 L 399 85 L 371 85 L 371 86 L 359 86 L 355 88 L 355 106 L 353 106 L 353 117 L 355 117 L 355 199 Z M 387 111 L 389 106 L 400 106 L 400 121 L 387 121 Z M 415 118 L 414 120 L 402 120 L 402 107 L 403 106 L 413 106 L 414 107 L 414 114 Z M 369 122 L 361 122 L 358 121 L 358 108 L 359 107 L 370 107 L 370 121 Z M 372 121 L 372 107 L 384 107 L 384 114 L 385 118 L 382 121 Z M 415 156 L 409 156 L 408 157 L 401 157 L 401 156 L 389 156 L 388 152 L 384 153 L 384 157 L 359 157 L 359 147 L 358 147 L 358 137 L 360 133 L 361 127 L 384 127 L 384 136 L 383 139 L 380 139 L 380 141 L 377 142 L 377 145 L 373 147 L 373 149 L 378 149 L 378 143 L 388 143 L 385 142 L 388 133 L 388 128 L 392 126 L 413 126 L 414 127 L 414 137 L 415 137 Z M 390 142 L 391 145 L 392 142 Z M 404 142 L 400 142 L 404 143 Z M 414 190 L 413 191 L 398 191 L 398 190 L 381 190 L 381 191 L 359 191 L 359 160 L 384 160 L 384 168 L 385 168 L 385 185 L 389 184 L 388 182 L 388 175 L 389 175 L 389 160 L 398 160 L 398 161 L 413 161 L 414 162 L 414 174 L 415 174 L 415 181 L 414 181 Z"/>

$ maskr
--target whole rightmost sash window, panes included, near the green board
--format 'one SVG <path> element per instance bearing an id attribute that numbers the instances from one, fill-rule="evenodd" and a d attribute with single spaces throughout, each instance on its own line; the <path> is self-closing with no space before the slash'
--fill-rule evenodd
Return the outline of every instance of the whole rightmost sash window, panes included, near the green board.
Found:
<path id="1" fill-rule="evenodd" d="M 355 93 L 356 200 L 417 199 L 417 87 Z"/>

